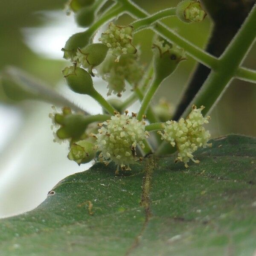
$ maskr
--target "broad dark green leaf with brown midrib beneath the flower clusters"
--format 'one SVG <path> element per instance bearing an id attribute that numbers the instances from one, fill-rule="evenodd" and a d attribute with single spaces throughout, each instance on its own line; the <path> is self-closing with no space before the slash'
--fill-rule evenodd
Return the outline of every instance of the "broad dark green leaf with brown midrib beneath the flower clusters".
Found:
<path id="1" fill-rule="evenodd" d="M 0 221 L 0 255 L 253 255 L 256 139 L 212 143 L 188 169 L 148 157 L 118 177 L 96 163 L 65 178 L 33 211 Z"/>

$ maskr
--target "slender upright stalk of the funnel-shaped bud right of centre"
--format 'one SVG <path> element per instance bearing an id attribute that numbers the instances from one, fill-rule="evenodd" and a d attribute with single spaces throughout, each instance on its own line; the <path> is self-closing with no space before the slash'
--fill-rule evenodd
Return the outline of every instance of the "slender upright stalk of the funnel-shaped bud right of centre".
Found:
<path id="1" fill-rule="evenodd" d="M 159 87 L 160 84 L 161 84 L 161 80 L 157 79 L 157 78 L 154 78 L 154 80 L 152 81 L 152 83 L 151 83 L 148 91 L 146 92 L 145 96 L 142 95 L 143 96 L 143 101 L 142 101 L 141 106 L 140 106 L 140 111 L 137 115 L 137 119 L 139 121 L 142 120 L 143 115 L 146 113 L 148 105 L 149 105 L 152 97 L 154 96 L 154 94 L 157 91 L 157 88 Z"/>

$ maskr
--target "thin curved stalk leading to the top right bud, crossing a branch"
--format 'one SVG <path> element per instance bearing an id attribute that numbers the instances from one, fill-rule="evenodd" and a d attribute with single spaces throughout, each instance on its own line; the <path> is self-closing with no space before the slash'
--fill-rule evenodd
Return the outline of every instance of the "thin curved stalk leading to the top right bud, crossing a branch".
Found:
<path id="1" fill-rule="evenodd" d="M 175 15 L 176 15 L 176 8 L 169 8 L 169 9 L 165 9 L 160 12 L 157 12 L 153 15 L 150 15 L 146 18 L 136 20 L 133 23 L 131 23 L 131 26 L 134 27 L 134 31 L 138 31 L 148 26 L 152 26 L 153 23 L 156 22 L 157 20 L 161 20 L 163 18 L 175 16 Z"/>

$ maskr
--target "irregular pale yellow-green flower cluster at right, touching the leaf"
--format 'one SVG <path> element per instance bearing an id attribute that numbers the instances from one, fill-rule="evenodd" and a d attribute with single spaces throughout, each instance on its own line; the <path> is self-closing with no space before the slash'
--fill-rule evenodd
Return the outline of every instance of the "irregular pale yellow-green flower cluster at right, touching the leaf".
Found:
<path id="1" fill-rule="evenodd" d="M 185 163 L 188 167 L 188 162 L 191 159 L 195 163 L 199 163 L 199 160 L 195 160 L 193 152 L 200 147 L 211 146 L 207 143 L 210 134 L 203 127 L 207 124 L 210 119 L 209 116 L 203 117 L 201 108 L 192 107 L 192 111 L 186 119 L 181 118 L 178 122 L 167 121 L 163 124 L 163 133 L 158 132 L 162 135 L 162 140 L 166 140 L 173 147 L 176 145 L 178 150 L 177 161 Z"/>

